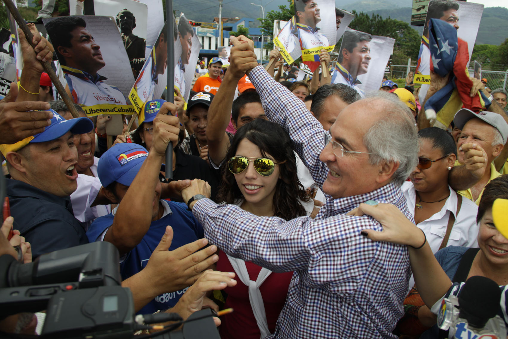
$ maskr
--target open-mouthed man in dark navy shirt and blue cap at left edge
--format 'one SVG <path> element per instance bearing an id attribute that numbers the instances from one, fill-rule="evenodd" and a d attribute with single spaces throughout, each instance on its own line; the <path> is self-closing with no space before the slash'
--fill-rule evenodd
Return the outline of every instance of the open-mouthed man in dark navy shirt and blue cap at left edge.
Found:
<path id="1" fill-rule="evenodd" d="M 78 151 L 74 134 L 88 133 L 88 118 L 65 120 L 54 110 L 51 125 L 12 145 L 0 145 L 11 175 L 7 194 L 14 228 L 43 253 L 87 243 L 85 229 L 73 215 L 69 195 L 76 190 Z"/>

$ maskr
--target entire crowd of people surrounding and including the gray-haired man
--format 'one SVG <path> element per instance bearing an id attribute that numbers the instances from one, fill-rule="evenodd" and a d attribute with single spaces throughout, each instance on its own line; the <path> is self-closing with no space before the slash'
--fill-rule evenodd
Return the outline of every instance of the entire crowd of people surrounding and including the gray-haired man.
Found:
<path id="1" fill-rule="evenodd" d="M 492 216 L 508 199 L 503 89 L 471 78 L 492 103 L 429 127 L 412 74 L 363 95 L 319 70 L 295 81 L 277 50 L 265 69 L 251 40 L 231 37 L 228 67 L 199 61 L 185 104 L 179 91 L 146 101 L 108 149 L 111 116 L 75 105 L 73 118 L 39 62 L 51 44 L 19 40 L 21 78 L 0 102 L 2 255 L 110 242 L 136 313 L 232 307 L 214 319 L 223 338 L 437 338 L 452 286 L 508 283 Z M 33 317 L 0 329 L 34 334 Z"/>

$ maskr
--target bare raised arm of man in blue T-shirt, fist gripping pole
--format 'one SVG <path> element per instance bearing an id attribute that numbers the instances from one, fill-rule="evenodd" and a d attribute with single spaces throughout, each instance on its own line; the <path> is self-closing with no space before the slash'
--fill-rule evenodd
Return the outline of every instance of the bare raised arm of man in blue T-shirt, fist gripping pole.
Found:
<path id="1" fill-rule="evenodd" d="M 179 133 L 176 106 L 165 102 L 153 120 L 153 144 L 131 186 L 118 205 L 113 225 L 104 237 L 118 248 L 120 255 L 133 249 L 145 236 L 151 223 L 151 210 L 158 174 L 165 159 L 168 143 L 176 145 Z"/>

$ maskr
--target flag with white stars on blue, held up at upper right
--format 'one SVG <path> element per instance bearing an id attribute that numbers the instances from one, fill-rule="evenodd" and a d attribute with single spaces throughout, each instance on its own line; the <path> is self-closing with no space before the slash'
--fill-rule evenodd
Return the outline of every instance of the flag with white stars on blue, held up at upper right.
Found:
<path id="1" fill-rule="evenodd" d="M 473 112 L 485 110 L 490 101 L 481 91 L 473 97 L 469 95 L 472 81 L 467 71 L 467 42 L 457 37 L 455 27 L 440 19 L 430 19 L 428 46 L 431 72 L 443 78 L 449 75 L 449 79 L 444 87 L 427 100 L 425 110 L 434 110 L 436 119 L 444 126 L 450 125 L 461 107 Z"/>

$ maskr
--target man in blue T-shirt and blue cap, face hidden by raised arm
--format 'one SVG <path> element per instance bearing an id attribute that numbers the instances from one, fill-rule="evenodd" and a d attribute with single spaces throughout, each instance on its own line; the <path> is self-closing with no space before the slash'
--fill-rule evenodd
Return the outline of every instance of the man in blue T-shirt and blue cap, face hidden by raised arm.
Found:
<path id="1" fill-rule="evenodd" d="M 158 180 L 168 143 L 177 143 L 179 120 L 166 115 L 176 106 L 164 103 L 153 120 L 153 138 L 148 152 L 143 146 L 121 143 L 110 148 L 99 160 L 98 175 L 108 199 L 119 205 L 112 213 L 97 218 L 86 235 L 90 241 L 113 243 L 124 256 L 120 264 L 122 279 L 140 272 L 156 249 L 167 225 L 173 228 L 170 250 L 203 237 L 203 228 L 187 206 L 161 200 Z M 189 268 L 193 274 L 216 262 L 217 256 L 201 266 Z M 206 265 L 204 265 L 206 263 Z M 155 277 L 154 277 L 155 278 Z M 191 283 L 192 284 L 192 283 Z M 182 279 L 178 290 L 164 291 L 140 310 L 153 313 L 173 307 L 190 284 Z"/>

